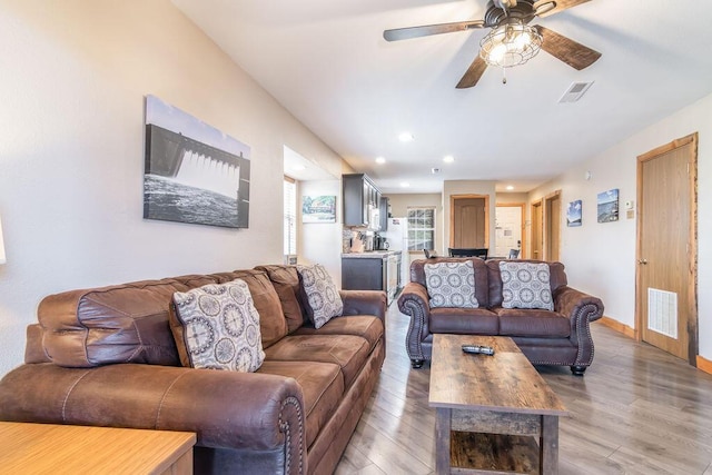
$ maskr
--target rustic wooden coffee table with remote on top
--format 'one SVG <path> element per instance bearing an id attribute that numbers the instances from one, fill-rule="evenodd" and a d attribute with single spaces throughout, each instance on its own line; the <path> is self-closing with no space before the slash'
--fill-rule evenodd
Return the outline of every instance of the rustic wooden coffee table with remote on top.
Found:
<path id="1" fill-rule="evenodd" d="M 495 354 L 468 355 L 464 344 Z M 566 408 L 511 338 L 436 334 L 429 405 L 438 474 L 558 472 Z"/>

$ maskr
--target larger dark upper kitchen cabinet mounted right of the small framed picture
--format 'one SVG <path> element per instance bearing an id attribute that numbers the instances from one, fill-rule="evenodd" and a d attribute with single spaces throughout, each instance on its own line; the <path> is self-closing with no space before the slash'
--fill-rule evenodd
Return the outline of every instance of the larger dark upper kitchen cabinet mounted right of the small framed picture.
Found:
<path id="1" fill-rule="evenodd" d="M 365 174 L 342 175 L 344 226 L 380 228 L 380 191 Z"/>

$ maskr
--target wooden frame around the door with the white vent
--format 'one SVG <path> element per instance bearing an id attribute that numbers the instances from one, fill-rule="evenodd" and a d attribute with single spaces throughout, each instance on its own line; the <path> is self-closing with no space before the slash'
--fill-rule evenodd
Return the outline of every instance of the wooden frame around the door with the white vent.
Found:
<path id="1" fill-rule="evenodd" d="M 688 170 L 688 179 L 690 180 L 690 229 L 688 230 L 688 269 L 690 271 L 690 285 L 688 286 L 688 308 L 681 308 L 681 311 L 688 314 L 688 327 L 682 328 L 683 331 L 688 331 L 688 363 L 692 366 L 698 366 L 699 349 L 699 319 L 698 319 L 698 132 L 691 133 L 685 137 L 681 137 L 656 147 L 643 155 L 637 156 L 637 216 L 636 216 L 636 240 L 635 240 L 635 263 L 639 263 L 643 256 L 641 256 L 641 246 L 643 240 L 641 229 L 641 217 L 645 210 L 643 209 L 643 164 L 647 160 L 668 154 L 676 148 L 684 147 L 692 144 L 692 169 Z M 690 164 L 690 161 L 688 162 Z M 641 269 L 640 265 L 635 265 L 635 339 L 641 342 L 643 339 L 643 325 L 645 325 L 644 315 L 641 315 L 641 308 L 639 305 L 639 294 L 641 289 Z"/>

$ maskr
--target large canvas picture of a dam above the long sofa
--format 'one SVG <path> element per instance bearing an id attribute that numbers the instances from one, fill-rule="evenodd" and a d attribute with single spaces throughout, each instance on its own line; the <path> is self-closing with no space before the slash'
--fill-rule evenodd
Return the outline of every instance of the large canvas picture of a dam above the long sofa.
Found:
<path id="1" fill-rule="evenodd" d="M 250 148 L 146 97 L 144 218 L 247 228 Z"/>

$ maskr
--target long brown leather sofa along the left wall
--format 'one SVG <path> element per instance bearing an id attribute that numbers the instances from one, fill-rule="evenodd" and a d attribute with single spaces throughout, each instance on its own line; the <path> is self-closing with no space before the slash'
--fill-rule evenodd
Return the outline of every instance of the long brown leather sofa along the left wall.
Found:
<path id="1" fill-rule="evenodd" d="M 180 366 L 175 291 L 244 279 L 260 316 L 256 373 Z M 46 297 L 26 364 L 0 380 L 0 419 L 197 433 L 195 473 L 332 473 L 378 379 L 386 296 L 343 290 L 315 329 L 295 267 L 263 266 Z"/>

